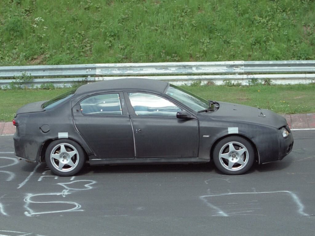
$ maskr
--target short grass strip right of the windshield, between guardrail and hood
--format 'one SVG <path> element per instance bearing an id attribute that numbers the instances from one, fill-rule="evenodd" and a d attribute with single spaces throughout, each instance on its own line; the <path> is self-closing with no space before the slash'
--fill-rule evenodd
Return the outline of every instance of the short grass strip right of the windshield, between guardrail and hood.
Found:
<path id="1" fill-rule="evenodd" d="M 315 113 L 315 83 L 271 86 L 183 86 L 200 97 L 272 110 L 279 114 Z"/>

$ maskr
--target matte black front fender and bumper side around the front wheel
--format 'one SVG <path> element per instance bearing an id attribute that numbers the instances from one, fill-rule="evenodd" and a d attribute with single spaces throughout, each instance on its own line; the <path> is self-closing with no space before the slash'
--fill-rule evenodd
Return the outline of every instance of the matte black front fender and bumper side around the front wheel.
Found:
<path id="1" fill-rule="evenodd" d="M 225 110 L 224 106 L 226 105 L 228 107 L 233 106 L 233 104 L 222 103 L 220 109 L 223 107 L 222 110 Z M 259 157 L 257 158 L 259 163 L 280 160 L 279 158 L 281 153 L 279 147 L 283 146 L 287 148 L 291 143 L 293 143 L 293 136 L 291 132 L 288 137 L 283 138 L 281 131 L 276 128 L 278 126 L 287 126 L 287 122 L 282 116 L 275 113 L 271 115 L 273 121 L 270 121 L 269 119 L 270 123 L 266 122 L 268 121 L 267 115 L 266 117 L 258 118 L 256 118 L 255 115 L 251 115 L 253 117 L 253 121 L 249 122 L 238 121 L 238 118 L 236 118 L 236 120 L 226 119 L 225 116 L 218 116 L 215 113 L 216 112 L 201 113 L 198 115 L 200 123 L 199 158 L 209 155 L 210 148 L 215 144 L 215 142 L 227 135 L 240 135 L 251 140 L 258 150 Z M 266 120 L 263 120 L 264 118 Z M 254 120 L 256 120 L 257 123 L 255 123 Z M 260 124 L 258 121 L 260 121 L 260 123 L 268 124 Z M 233 128 L 237 128 L 238 132 L 229 132 L 229 128 L 232 128 L 232 130 Z M 287 129 L 289 130 L 288 126 Z M 286 155 L 288 154 L 289 153 Z"/>

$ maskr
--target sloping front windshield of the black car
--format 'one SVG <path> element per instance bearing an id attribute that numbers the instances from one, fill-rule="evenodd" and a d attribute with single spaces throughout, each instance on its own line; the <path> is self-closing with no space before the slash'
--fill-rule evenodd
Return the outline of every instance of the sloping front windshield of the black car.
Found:
<path id="1" fill-rule="evenodd" d="M 209 109 L 209 101 L 172 84 L 169 85 L 166 95 L 174 98 L 182 104 L 185 104 L 187 107 L 196 112 Z"/>

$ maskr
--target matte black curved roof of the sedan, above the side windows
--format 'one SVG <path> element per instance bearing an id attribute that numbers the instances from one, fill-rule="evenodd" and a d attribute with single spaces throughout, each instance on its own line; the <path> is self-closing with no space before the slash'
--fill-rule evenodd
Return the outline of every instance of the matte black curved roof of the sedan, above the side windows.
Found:
<path id="1" fill-rule="evenodd" d="M 77 88 L 76 94 L 100 91 L 135 91 L 143 90 L 155 93 L 164 93 L 169 83 L 144 78 L 112 79 L 85 84 Z"/>

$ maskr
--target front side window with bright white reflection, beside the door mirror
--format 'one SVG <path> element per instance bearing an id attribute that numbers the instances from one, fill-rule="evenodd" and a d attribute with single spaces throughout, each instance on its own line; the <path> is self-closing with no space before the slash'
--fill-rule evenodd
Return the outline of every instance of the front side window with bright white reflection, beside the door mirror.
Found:
<path id="1" fill-rule="evenodd" d="M 128 93 L 129 100 L 136 115 L 171 116 L 181 109 L 165 98 L 149 93 Z"/>

